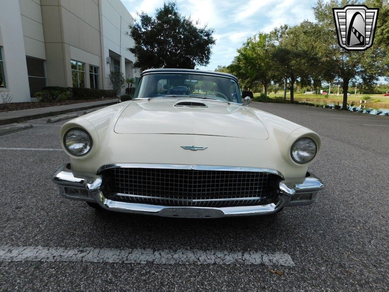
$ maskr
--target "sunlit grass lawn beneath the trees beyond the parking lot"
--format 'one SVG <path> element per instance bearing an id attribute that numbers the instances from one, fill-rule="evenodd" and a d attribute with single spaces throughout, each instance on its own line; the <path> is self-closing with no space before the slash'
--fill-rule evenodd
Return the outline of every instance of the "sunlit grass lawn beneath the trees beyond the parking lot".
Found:
<path id="1" fill-rule="evenodd" d="M 254 96 L 259 96 L 260 93 L 254 93 Z M 356 105 L 359 106 L 359 100 L 363 98 L 364 95 L 369 95 L 371 100 L 368 103 L 364 104 L 367 107 L 371 108 L 381 108 L 381 109 L 389 109 L 389 96 L 383 96 L 382 94 L 352 94 L 347 97 L 347 102 L 350 103 L 352 101 L 356 102 Z M 269 97 L 283 97 L 283 92 L 277 92 L 277 94 L 269 93 Z M 286 99 L 289 99 L 289 92 L 287 92 Z M 336 96 L 335 94 L 331 94 L 330 96 L 324 95 L 316 95 L 316 94 L 303 94 L 303 93 L 294 93 L 294 100 L 297 101 L 307 101 L 307 102 L 327 102 L 337 104 L 339 102 L 342 105 L 343 95 Z M 373 102 L 374 100 L 374 102 Z M 378 101 L 380 100 L 380 101 Z"/>

